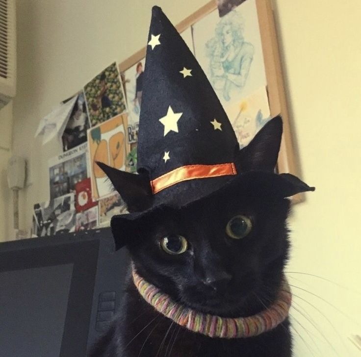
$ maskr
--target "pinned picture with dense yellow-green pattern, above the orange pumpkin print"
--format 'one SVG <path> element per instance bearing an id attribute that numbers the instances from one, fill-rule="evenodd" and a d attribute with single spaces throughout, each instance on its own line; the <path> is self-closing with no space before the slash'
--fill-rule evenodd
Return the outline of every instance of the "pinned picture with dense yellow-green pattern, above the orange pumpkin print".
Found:
<path id="1" fill-rule="evenodd" d="M 86 84 L 84 93 L 92 127 L 126 110 L 123 86 L 116 62 Z"/>

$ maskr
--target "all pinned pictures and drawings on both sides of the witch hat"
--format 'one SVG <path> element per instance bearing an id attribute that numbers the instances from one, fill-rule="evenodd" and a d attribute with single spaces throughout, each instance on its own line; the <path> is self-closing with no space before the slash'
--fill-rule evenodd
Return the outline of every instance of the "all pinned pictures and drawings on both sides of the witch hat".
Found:
<path id="1" fill-rule="evenodd" d="M 218 0 L 218 8 L 181 36 L 222 103 L 240 148 L 246 146 L 270 119 L 256 1 Z M 96 161 L 136 173 L 145 67 L 145 58 L 122 73 L 111 63 L 41 120 L 37 134 L 58 137 L 63 153 L 49 160 L 50 201 L 34 205 L 34 235 L 108 227 L 113 215 L 127 213 Z"/>

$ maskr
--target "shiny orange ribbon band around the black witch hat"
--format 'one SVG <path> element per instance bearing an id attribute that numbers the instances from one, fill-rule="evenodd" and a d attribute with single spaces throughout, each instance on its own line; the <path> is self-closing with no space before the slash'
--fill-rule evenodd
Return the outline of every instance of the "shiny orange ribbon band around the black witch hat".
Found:
<path id="1" fill-rule="evenodd" d="M 227 175 L 237 175 L 233 162 L 217 165 L 186 165 L 155 178 L 151 181 L 151 186 L 155 194 L 181 181 Z"/>

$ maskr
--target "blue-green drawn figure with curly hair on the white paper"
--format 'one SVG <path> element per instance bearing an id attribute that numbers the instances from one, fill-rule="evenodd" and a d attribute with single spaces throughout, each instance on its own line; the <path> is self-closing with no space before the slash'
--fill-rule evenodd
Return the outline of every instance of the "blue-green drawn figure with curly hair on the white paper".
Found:
<path id="1" fill-rule="evenodd" d="M 216 92 L 226 101 L 232 89 L 241 90 L 246 84 L 255 49 L 243 38 L 243 20 L 232 11 L 215 27 L 215 36 L 206 43 L 210 80 Z"/>

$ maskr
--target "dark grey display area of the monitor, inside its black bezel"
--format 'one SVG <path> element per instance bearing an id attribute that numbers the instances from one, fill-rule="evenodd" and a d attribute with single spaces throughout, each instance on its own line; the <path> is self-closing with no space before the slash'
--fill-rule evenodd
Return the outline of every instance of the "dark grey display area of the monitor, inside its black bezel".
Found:
<path id="1" fill-rule="evenodd" d="M 6 287 L 6 295 L 0 292 L 0 356 L 60 355 L 72 273 L 73 264 L 0 273 Z"/>

